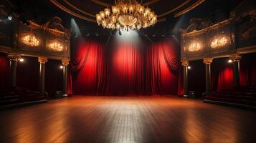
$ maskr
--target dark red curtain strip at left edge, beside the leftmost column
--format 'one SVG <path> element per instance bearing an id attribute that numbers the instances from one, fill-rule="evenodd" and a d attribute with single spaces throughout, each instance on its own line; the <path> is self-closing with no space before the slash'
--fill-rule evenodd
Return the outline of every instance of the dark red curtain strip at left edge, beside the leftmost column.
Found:
<path id="1" fill-rule="evenodd" d="M 7 54 L 0 53 L 0 87 L 9 82 L 9 59 Z"/>

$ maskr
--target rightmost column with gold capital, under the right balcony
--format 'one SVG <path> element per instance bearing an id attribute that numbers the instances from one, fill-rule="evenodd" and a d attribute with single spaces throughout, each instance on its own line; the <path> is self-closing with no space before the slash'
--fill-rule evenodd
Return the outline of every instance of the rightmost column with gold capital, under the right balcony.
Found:
<path id="1" fill-rule="evenodd" d="M 229 59 L 233 62 L 233 82 L 234 87 L 240 86 L 240 59 L 241 56 L 236 54 L 229 56 Z"/>

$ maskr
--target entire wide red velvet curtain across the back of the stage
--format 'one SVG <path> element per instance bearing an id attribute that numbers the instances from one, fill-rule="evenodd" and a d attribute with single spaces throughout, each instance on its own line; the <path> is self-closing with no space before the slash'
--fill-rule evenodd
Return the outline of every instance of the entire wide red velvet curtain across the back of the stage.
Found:
<path id="1" fill-rule="evenodd" d="M 87 41 L 74 49 L 74 94 L 177 94 L 179 55 L 173 41 L 146 47 Z"/>

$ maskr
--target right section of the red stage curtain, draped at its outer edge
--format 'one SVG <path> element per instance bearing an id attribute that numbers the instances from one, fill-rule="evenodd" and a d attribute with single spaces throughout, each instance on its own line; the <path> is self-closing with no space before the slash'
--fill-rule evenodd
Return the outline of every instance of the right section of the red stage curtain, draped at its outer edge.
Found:
<path id="1" fill-rule="evenodd" d="M 179 59 L 170 43 L 153 44 L 148 49 L 146 66 L 150 93 L 177 94 Z"/>

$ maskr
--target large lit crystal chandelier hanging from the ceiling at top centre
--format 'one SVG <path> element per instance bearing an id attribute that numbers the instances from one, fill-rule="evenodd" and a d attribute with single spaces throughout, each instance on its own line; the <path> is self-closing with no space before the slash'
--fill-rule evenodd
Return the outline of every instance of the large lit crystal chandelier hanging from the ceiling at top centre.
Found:
<path id="1" fill-rule="evenodd" d="M 107 29 L 141 29 L 156 24 L 157 16 L 136 0 L 115 0 L 112 11 L 106 8 L 96 14 L 98 25 Z"/>

